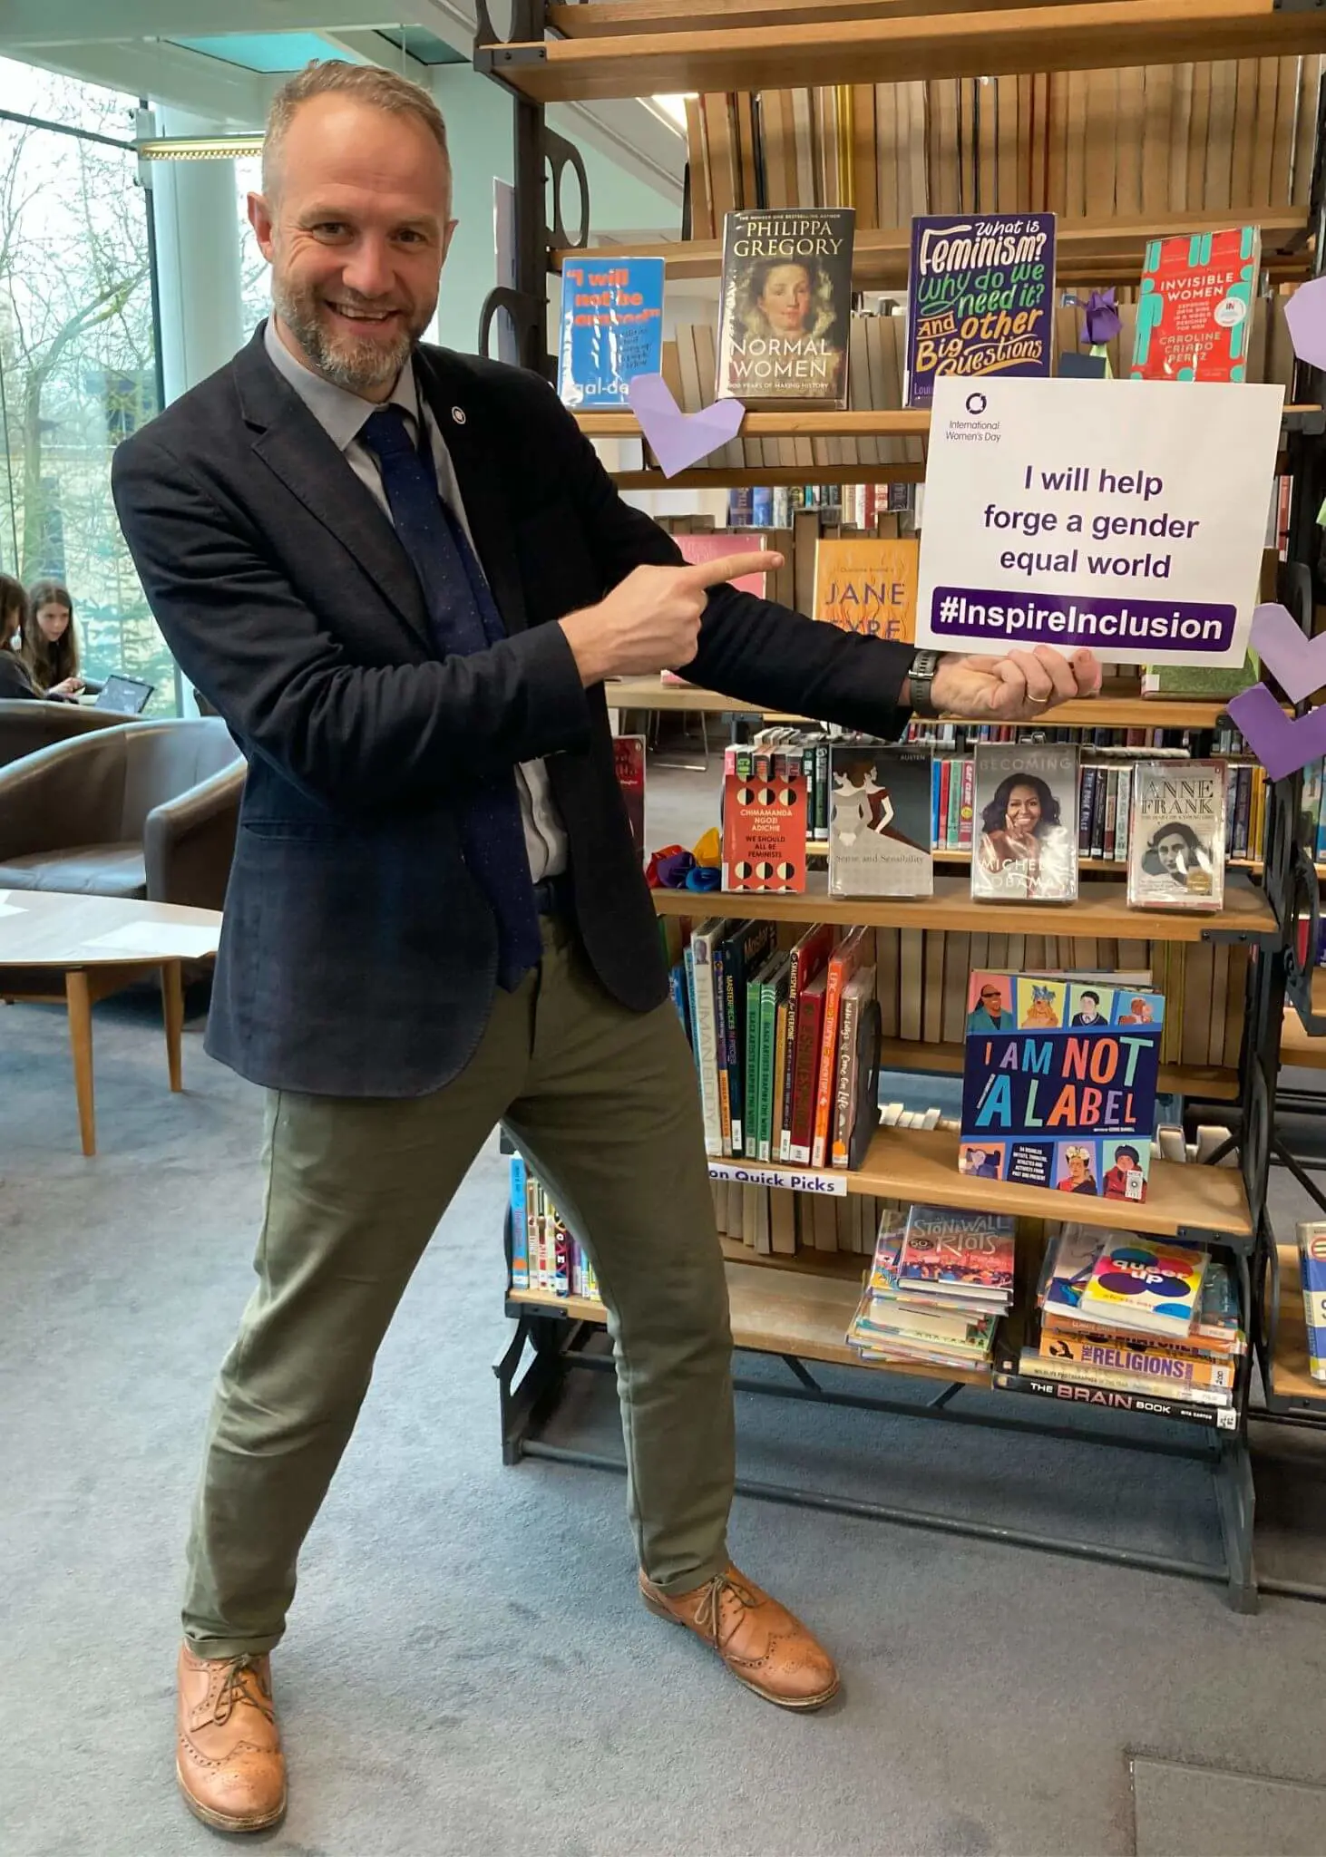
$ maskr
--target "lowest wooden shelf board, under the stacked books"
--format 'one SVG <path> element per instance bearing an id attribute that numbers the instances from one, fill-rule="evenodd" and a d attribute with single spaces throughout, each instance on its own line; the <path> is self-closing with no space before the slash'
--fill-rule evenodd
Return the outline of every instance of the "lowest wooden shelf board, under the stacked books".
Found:
<path id="1" fill-rule="evenodd" d="M 728 1246 L 730 1250 L 730 1246 Z M 737 1246 L 745 1250 L 745 1246 Z M 851 1270 L 838 1263 L 839 1253 L 797 1253 L 778 1263 L 791 1268 L 769 1268 L 774 1259 L 730 1261 L 728 1304 L 732 1307 L 732 1341 L 737 1348 L 756 1354 L 795 1354 L 804 1361 L 832 1361 L 838 1367 L 867 1367 L 903 1374 L 908 1380 L 962 1380 L 966 1385 L 990 1385 L 984 1369 L 930 1367 L 925 1361 L 899 1361 L 880 1369 L 877 1361 L 862 1361 L 847 1346 L 851 1322 L 862 1294 L 862 1274 L 867 1257 L 851 1255 Z M 832 1274 L 825 1274 L 826 1265 Z M 513 1289 L 507 1305 L 520 1309 L 548 1309 L 574 1322 L 607 1320 L 602 1302 L 583 1296 L 553 1296 L 550 1291 Z"/>

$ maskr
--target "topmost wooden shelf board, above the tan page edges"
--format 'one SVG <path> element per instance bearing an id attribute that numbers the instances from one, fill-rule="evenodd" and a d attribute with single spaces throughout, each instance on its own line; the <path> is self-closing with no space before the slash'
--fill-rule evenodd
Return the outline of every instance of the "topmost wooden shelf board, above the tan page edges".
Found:
<path id="1" fill-rule="evenodd" d="M 756 15 L 763 19 L 765 15 Z M 533 102 L 680 91 L 776 91 L 1040 71 L 1112 71 L 1189 59 L 1293 58 L 1326 48 L 1326 15 L 1272 0 L 1088 0 L 878 17 L 802 0 L 793 22 L 542 39 L 475 52 Z"/>

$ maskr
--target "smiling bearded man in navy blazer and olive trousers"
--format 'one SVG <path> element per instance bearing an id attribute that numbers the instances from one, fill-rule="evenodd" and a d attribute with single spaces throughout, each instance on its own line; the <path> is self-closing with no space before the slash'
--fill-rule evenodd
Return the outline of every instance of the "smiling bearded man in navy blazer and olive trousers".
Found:
<path id="1" fill-rule="evenodd" d="M 828 1655 L 728 1558 L 730 1330 L 695 1066 L 613 774 L 604 678 L 683 667 L 897 734 L 904 646 L 687 568 L 531 373 L 420 347 L 455 230 L 431 98 L 370 67 L 279 91 L 249 202 L 273 318 L 115 457 L 184 674 L 249 760 L 208 1049 L 266 1084 L 258 1287 L 188 1552 L 178 1779 L 210 1825 L 286 1799 L 269 1651 L 438 1218 L 501 1120 L 609 1309 L 641 1595 L 758 1695 Z M 1008 721 L 1096 661 L 943 659 Z"/>

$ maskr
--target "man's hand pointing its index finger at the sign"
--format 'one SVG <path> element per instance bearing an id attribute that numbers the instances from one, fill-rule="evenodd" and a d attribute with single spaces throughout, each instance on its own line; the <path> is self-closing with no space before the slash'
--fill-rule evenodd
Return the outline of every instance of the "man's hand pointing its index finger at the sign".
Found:
<path id="1" fill-rule="evenodd" d="M 568 613 L 559 622 L 576 654 L 581 683 L 589 687 L 604 678 L 639 678 L 689 665 L 698 648 L 709 587 L 739 574 L 771 574 L 780 566 L 780 553 L 752 548 L 695 566 L 631 568 L 598 605 Z"/>

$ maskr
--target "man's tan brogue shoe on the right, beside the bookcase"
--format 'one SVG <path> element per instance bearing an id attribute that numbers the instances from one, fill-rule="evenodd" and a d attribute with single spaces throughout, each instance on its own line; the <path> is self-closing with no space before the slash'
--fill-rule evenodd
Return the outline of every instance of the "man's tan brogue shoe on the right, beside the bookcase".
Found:
<path id="1" fill-rule="evenodd" d="M 728 1564 L 689 1593 L 663 1593 L 641 1573 L 641 1599 L 719 1653 L 737 1682 L 780 1708 L 823 1708 L 838 1671 L 799 1617 Z"/>

